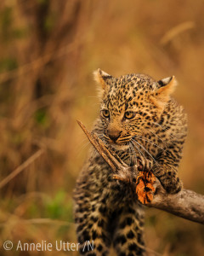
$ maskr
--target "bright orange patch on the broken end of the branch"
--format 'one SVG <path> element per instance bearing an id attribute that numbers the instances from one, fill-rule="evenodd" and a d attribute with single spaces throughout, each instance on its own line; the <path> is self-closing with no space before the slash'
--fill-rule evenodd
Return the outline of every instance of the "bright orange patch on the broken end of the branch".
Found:
<path id="1" fill-rule="evenodd" d="M 138 195 L 138 200 L 142 204 L 148 204 L 153 200 L 154 193 L 156 189 L 153 184 L 156 182 L 155 175 L 148 171 L 139 172 L 136 179 L 136 194 Z"/>

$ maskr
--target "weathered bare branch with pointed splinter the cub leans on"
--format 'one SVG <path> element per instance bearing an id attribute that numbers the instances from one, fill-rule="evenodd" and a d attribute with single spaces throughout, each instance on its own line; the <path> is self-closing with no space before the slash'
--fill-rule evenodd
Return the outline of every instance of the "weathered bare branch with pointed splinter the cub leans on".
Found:
<path id="1" fill-rule="evenodd" d="M 128 173 L 130 168 L 135 168 L 136 171 L 143 169 L 141 163 L 138 161 L 135 166 L 129 167 L 120 160 L 116 154 L 112 154 L 105 144 L 97 137 L 93 132 L 89 132 L 82 122 L 77 121 L 81 126 L 82 131 L 87 135 L 90 143 L 104 158 L 104 160 L 111 166 L 111 169 L 115 176 L 121 177 L 121 180 L 129 181 Z M 165 212 L 170 212 L 178 217 L 186 218 L 191 221 L 204 224 L 204 195 L 200 195 L 189 189 L 182 189 L 178 194 L 169 195 L 166 190 L 163 189 L 161 183 L 156 179 L 154 184 L 156 192 L 154 198 L 150 203 L 146 204 L 148 207 L 155 207 Z"/>

